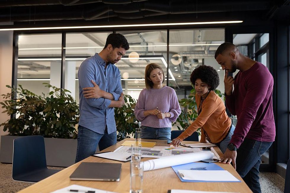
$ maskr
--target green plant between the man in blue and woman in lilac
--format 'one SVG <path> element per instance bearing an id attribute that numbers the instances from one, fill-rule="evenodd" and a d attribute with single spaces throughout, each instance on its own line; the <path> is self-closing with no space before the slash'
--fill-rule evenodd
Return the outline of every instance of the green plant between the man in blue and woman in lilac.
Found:
<path id="1" fill-rule="evenodd" d="M 135 124 L 137 119 L 134 115 L 136 100 L 130 95 L 124 95 L 124 100 L 125 104 L 121 108 L 115 108 L 115 121 L 118 132 L 117 140 L 130 138 L 130 135 L 135 132 L 135 128 L 138 127 Z"/>

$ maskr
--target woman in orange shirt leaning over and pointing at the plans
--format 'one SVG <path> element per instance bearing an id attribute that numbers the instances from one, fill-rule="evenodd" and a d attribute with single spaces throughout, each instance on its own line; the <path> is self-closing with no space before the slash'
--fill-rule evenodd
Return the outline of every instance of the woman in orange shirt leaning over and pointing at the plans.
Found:
<path id="1" fill-rule="evenodd" d="M 178 146 L 186 137 L 201 128 L 201 143 L 206 140 L 225 153 L 235 127 L 225 112 L 225 105 L 214 92 L 219 85 L 218 72 L 210 66 L 200 66 L 191 73 L 190 81 L 196 90 L 198 117 L 170 145 Z"/>

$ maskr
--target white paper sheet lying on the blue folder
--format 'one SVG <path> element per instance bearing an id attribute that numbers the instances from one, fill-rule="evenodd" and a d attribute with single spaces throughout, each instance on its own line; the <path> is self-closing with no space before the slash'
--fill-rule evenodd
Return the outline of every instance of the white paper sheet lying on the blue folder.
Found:
<path id="1" fill-rule="evenodd" d="M 178 170 L 184 180 L 199 181 L 239 181 L 230 172 L 226 170 Z"/>

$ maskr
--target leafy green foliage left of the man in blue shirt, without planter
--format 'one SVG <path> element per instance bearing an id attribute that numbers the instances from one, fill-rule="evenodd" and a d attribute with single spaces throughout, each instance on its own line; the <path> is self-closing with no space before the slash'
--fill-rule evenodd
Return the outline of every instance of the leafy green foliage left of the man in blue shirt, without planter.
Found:
<path id="1" fill-rule="evenodd" d="M 46 83 L 43 83 L 46 84 Z M 76 138 L 74 128 L 78 123 L 79 110 L 75 100 L 68 93 L 49 84 L 53 91 L 48 97 L 44 94 L 36 95 L 29 90 L 19 88 L 11 89 L 11 93 L 2 95 L 4 101 L 0 104 L 12 118 L 2 123 L 4 131 L 9 135 L 43 135 L 44 137 Z"/>

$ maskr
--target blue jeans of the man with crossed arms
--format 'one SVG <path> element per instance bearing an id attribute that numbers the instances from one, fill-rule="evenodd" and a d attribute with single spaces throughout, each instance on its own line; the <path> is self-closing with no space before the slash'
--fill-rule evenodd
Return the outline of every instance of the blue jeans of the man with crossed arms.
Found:
<path id="1" fill-rule="evenodd" d="M 78 147 L 75 156 L 75 163 L 95 154 L 97 146 L 100 151 L 117 143 L 117 132 L 108 134 L 107 127 L 105 134 L 96 133 L 86 127 L 78 126 Z"/>

